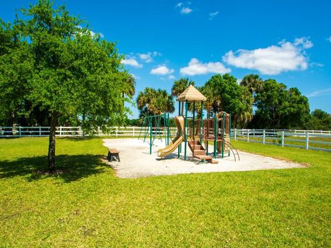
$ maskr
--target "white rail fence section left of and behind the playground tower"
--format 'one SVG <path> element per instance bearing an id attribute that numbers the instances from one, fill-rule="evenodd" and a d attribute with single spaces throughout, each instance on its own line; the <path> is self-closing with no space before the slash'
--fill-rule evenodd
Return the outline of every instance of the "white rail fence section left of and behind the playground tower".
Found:
<path id="1" fill-rule="evenodd" d="M 86 136 L 123 136 L 123 137 L 138 137 L 140 131 L 145 132 L 149 130 L 148 127 L 109 127 L 108 131 L 103 132 L 100 127 L 93 130 L 92 134 L 85 134 Z M 165 130 L 152 130 L 157 134 L 164 135 Z M 171 136 L 176 136 L 177 127 L 170 127 Z M 83 129 L 81 127 L 57 127 L 55 136 L 70 137 L 83 136 Z M 50 127 L 0 127 L 0 138 L 13 137 L 45 137 L 50 135 Z"/>

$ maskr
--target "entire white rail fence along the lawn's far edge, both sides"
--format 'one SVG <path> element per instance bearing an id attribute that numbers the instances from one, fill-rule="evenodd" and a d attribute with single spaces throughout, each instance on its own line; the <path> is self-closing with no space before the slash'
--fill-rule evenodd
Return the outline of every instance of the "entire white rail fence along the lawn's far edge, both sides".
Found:
<path id="1" fill-rule="evenodd" d="M 165 130 L 154 129 L 153 134 L 164 136 Z M 95 136 L 141 137 L 149 136 L 149 127 L 110 127 L 102 132 L 98 127 Z M 175 136 L 177 127 L 170 127 L 171 136 Z M 0 127 L 0 138 L 49 136 L 50 127 Z M 81 127 L 57 127 L 56 136 L 83 136 Z M 231 138 L 239 141 L 279 145 L 282 147 L 300 147 L 331 152 L 331 132 L 323 130 L 247 130 L 232 129 Z"/>

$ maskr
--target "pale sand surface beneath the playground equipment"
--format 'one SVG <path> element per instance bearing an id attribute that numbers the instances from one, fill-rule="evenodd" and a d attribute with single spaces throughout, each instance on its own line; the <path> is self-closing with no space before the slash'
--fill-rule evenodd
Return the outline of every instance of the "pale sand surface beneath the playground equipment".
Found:
<path id="1" fill-rule="evenodd" d="M 298 163 L 282 161 L 275 158 L 250 154 L 239 151 L 240 161 L 235 162 L 233 154 L 230 157 L 217 158 L 218 164 L 199 163 L 192 161 L 192 152 L 188 150 L 188 160 L 183 160 L 184 143 L 182 143 L 181 157 L 176 152 L 161 159 L 157 150 L 165 147 L 165 142 L 155 139 L 152 154 L 150 145 L 137 138 L 105 138 L 103 145 L 119 150 L 121 162 L 112 161 L 110 166 L 120 178 L 139 178 L 145 176 L 161 176 L 174 174 L 206 173 L 206 172 L 239 172 L 257 169 L 288 169 L 303 167 Z M 209 151 L 213 148 L 210 146 Z"/>

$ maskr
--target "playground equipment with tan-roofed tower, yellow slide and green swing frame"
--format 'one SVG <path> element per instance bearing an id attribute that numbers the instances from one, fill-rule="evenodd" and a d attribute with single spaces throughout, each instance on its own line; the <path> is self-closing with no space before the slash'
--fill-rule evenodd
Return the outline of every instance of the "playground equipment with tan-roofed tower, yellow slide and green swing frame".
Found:
<path id="1" fill-rule="evenodd" d="M 207 118 L 203 120 L 203 101 L 206 101 L 205 96 L 199 92 L 193 85 L 190 85 L 180 96 L 177 97 L 179 102 L 179 116 L 174 118 L 177 125 L 177 136 L 170 142 L 170 118 L 169 115 L 162 116 L 148 116 L 144 119 L 141 127 L 141 132 L 144 129 L 144 142 L 146 137 L 150 138 L 150 154 L 152 154 L 152 144 L 154 138 L 161 133 L 165 137 L 166 147 L 158 150 L 158 156 L 164 158 L 172 154 L 175 149 L 178 149 L 178 158 L 182 152 L 182 143 L 184 143 L 183 155 L 184 160 L 187 160 L 187 147 L 192 152 L 192 159 L 198 158 L 200 161 L 208 161 L 210 163 L 218 163 L 216 158 L 224 158 L 225 154 L 230 156 L 232 151 L 234 160 L 239 158 L 237 149 L 230 143 L 230 127 L 231 115 L 225 112 L 207 113 Z M 185 115 L 181 106 L 185 103 Z M 200 103 L 199 118 L 196 116 L 196 103 Z M 192 104 L 192 116 L 188 116 L 188 106 Z M 161 127 L 161 120 L 163 119 L 163 127 Z M 154 121 L 153 121 L 154 120 Z M 156 123 L 156 127 L 153 127 Z M 140 138 L 139 134 L 139 138 Z M 212 155 L 208 152 L 209 142 L 214 142 L 214 149 Z M 204 143 L 204 146 L 203 146 Z M 219 156 L 217 154 L 219 152 Z M 237 156 L 237 158 L 236 158 Z"/>

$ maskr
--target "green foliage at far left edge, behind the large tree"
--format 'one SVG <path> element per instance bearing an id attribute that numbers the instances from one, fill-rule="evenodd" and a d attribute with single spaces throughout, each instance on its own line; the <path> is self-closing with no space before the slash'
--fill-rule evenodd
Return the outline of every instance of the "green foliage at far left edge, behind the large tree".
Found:
<path id="1" fill-rule="evenodd" d="M 16 24 L 0 19 L 0 125 L 12 126 L 31 111 L 26 95 L 33 58 Z"/>

